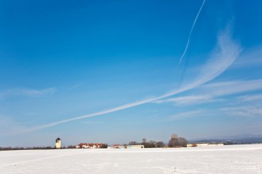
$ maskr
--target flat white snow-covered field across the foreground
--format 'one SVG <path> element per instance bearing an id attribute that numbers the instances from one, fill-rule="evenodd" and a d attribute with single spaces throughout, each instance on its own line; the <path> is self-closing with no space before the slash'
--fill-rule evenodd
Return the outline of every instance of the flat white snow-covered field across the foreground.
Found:
<path id="1" fill-rule="evenodd" d="M 262 144 L 0 151 L 0 173 L 262 173 Z"/>

